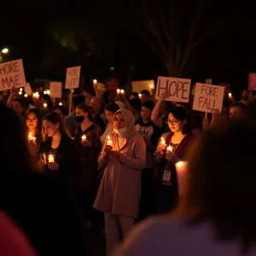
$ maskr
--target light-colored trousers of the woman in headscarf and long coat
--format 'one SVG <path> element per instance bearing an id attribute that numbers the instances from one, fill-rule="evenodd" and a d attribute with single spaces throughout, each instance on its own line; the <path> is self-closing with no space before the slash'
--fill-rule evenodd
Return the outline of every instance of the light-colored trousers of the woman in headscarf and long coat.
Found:
<path id="1" fill-rule="evenodd" d="M 119 244 L 121 229 L 123 238 L 131 230 L 134 218 L 104 212 L 107 256 L 111 256 L 114 248 Z"/>

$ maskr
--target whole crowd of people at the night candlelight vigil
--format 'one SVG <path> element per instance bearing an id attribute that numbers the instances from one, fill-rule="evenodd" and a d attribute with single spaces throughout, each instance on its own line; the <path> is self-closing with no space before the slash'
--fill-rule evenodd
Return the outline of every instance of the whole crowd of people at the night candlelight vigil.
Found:
<path id="1" fill-rule="evenodd" d="M 255 253 L 256 91 L 226 91 L 207 119 L 168 96 L 2 97 L 0 209 L 23 241 L 14 255 L 88 255 L 98 212 L 108 256 Z"/>

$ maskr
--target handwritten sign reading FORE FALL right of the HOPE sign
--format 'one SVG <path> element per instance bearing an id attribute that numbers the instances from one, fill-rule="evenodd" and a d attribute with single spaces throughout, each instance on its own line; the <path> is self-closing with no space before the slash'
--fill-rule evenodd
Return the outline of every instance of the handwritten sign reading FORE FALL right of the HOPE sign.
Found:
<path id="1" fill-rule="evenodd" d="M 224 90 L 224 86 L 196 83 L 193 109 L 207 113 L 218 109 L 221 112 Z"/>

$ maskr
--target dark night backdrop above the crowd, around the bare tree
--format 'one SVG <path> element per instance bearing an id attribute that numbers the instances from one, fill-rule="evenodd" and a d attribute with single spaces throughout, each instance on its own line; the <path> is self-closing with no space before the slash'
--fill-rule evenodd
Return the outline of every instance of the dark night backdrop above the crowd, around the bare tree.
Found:
<path id="1" fill-rule="evenodd" d="M 4 55 L 3 60 L 22 58 L 26 80 L 32 85 L 35 79 L 63 81 L 67 67 L 80 65 L 88 87 L 90 79 L 118 77 L 125 84 L 129 78 L 168 76 L 159 55 L 137 35 L 137 27 L 144 31 L 134 11 L 140 0 L 131 2 L 9 0 L 1 3 L 0 48 L 9 48 L 9 55 Z M 153 2 L 157 1 L 145 1 L 149 5 Z M 157 3 L 160 2 L 166 1 Z M 183 27 L 189 25 L 202 3 L 207 2 L 207 7 L 199 34 L 207 30 L 210 21 L 218 23 L 218 29 L 189 56 L 189 72 L 183 77 L 198 82 L 211 78 L 213 84 L 230 82 L 236 94 L 246 89 L 248 73 L 256 72 L 253 3 L 169 2 L 173 3 L 172 15 L 165 13 L 165 17 L 178 20 L 181 27 L 177 25 L 177 30 L 182 34 L 186 33 Z M 191 3 L 195 9 L 190 8 Z M 154 17 L 157 10 L 151 9 L 150 15 Z"/>

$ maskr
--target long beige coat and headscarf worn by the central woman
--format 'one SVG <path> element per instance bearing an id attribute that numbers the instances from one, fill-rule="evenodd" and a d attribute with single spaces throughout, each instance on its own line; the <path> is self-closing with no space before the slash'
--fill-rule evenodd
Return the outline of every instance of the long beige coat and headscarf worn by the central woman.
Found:
<path id="1" fill-rule="evenodd" d="M 119 160 L 107 160 L 102 153 L 98 158 L 99 166 L 106 168 L 93 207 L 101 212 L 137 218 L 141 195 L 141 171 L 146 161 L 146 145 L 143 137 L 135 129 L 132 113 L 127 109 L 119 111 L 125 117 L 127 128 L 125 142 L 119 145 L 118 135 L 111 134 L 113 150 L 121 153 Z"/>

